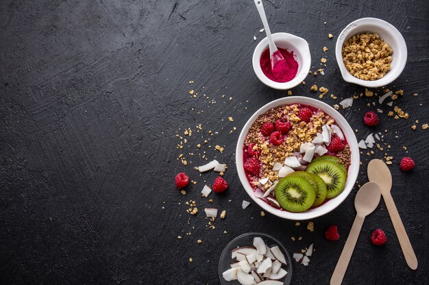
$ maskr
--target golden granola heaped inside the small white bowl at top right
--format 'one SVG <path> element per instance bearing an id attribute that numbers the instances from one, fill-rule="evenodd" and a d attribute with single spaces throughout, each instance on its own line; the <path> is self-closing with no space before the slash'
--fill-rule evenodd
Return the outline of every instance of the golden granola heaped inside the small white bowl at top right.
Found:
<path id="1" fill-rule="evenodd" d="M 354 77 L 377 80 L 390 70 L 393 50 L 377 33 L 356 33 L 343 44 L 345 68 Z"/>

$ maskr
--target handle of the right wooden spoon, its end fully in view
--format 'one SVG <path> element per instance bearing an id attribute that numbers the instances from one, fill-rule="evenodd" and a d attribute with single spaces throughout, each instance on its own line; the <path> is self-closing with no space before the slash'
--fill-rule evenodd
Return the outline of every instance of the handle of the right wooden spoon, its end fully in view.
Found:
<path id="1" fill-rule="evenodd" d="M 408 239 L 408 234 L 406 234 L 404 223 L 402 223 L 400 214 L 397 213 L 397 208 L 395 202 L 393 201 L 391 193 L 383 194 L 384 203 L 387 206 L 387 211 L 389 212 L 390 218 L 393 223 L 393 228 L 397 235 L 397 239 L 400 242 L 402 253 L 404 254 L 406 264 L 410 269 L 417 269 L 417 257 L 415 256 L 413 246 Z"/>

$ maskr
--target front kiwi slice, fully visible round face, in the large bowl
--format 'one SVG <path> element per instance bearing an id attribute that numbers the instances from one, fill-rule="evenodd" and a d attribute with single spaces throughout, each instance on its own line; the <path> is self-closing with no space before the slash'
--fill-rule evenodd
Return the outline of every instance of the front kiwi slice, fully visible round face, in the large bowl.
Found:
<path id="1" fill-rule="evenodd" d="M 275 200 L 290 212 L 304 212 L 315 202 L 316 192 L 306 178 L 286 176 L 275 187 Z"/>

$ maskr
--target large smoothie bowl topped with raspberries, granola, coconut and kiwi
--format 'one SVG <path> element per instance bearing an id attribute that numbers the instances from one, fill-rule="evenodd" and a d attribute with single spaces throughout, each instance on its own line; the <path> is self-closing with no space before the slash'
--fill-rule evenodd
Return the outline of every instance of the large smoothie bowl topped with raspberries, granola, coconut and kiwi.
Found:
<path id="1" fill-rule="evenodd" d="M 245 191 L 266 211 L 312 219 L 332 211 L 352 191 L 358 143 L 345 118 L 326 103 L 281 98 L 245 124 L 236 166 Z"/>

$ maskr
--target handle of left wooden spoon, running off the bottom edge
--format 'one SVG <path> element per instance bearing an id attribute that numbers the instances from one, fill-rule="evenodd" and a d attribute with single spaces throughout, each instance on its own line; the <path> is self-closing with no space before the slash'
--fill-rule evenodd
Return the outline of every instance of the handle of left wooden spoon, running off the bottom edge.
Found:
<path id="1" fill-rule="evenodd" d="M 350 258 L 352 257 L 356 241 L 358 241 L 360 229 L 362 228 L 364 219 L 365 217 L 356 215 L 352 230 L 350 230 L 350 234 L 347 237 L 347 241 L 345 242 L 343 252 L 341 252 L 340 259 L 336 263 L 334 273 L 332 273 L 330 285 L 340 285 L 341 282 L 343 282 L 345 271 L 347 271 L 347 266 L 349 265 Z"/>

